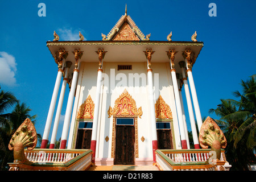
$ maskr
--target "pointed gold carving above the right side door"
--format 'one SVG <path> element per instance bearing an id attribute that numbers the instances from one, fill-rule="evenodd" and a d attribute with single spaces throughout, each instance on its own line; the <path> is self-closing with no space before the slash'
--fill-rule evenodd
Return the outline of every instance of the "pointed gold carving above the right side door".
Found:
<path id="1" fill-rule="evenodd" d="M 155 103 L 155 118 L 172 119 L 172 111 L 170 106 L 166 104 L 161 95 Z"/>

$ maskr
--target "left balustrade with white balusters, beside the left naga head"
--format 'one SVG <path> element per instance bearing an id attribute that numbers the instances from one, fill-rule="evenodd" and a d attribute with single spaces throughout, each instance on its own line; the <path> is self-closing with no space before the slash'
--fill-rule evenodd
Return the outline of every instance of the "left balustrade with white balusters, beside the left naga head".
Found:
<path id="1" fill-rule="evenodd" d="M 10 171 L 84 171 L 92 164 L 92 150 L 24 150 L 30 164 L 8 163 Z"/>

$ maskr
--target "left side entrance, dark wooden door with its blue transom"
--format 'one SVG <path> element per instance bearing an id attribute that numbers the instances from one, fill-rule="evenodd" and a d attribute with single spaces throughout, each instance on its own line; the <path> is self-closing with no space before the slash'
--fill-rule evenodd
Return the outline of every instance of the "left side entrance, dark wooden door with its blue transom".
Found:
<path id="1" fill-rule="evenodd" d="M 89 149 L 92 139 L 92 122 L 79 122 L 77 130 L 76 149 Z"/>

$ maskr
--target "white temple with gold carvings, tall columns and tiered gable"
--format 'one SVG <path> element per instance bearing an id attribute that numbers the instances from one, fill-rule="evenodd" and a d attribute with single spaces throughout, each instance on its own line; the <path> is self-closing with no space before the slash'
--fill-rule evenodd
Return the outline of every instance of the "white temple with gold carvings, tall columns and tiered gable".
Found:
<path id="1" fill-rule="evenodd" d="M 88 169 L 92 164 L 154 164 L 162 170 L 185 169 L 186 166 L 189 169 L 227 170 L 229 165 L 224 150 L 217 147 L 220 155 L 218 165 L 214 166 L 209 163 L 210 149 L 202 149 L 212 145 L 207 144 L 206 136 L 200 143 L 197 134 L 203 122 L 192 68 L 204 44 L 196 40 L 196 32 L 190 42 L 172 40 L 172 32 L 165 36 L 166 41 L 152 41 L 150 32 L 145 36 L 126 9 L 125 15 L 105 34 L 102 32 L 102 40 L 84 41 L 79 32 L 79 40 L 61 41 L 54 32 L 53 41 L 47 42 L 57 64 L 57 78 L 42 145 L 40 150 L 32 151 L 45 151 L 48 154 L 44 157 L 46 163 L 47 159 L 52 162 L 52 158 L 53 162 L 65 162 L 62 169 L 67 167 L 68 161 L 90 156 L 79 169 Z M 69 93 L 65 93 L 67 85 Z M 182 98 L 181 89 L 185 90 L 185 98 Z M 68 94 L 67 104 L 63 103 L 65 94 Z M 187 105 L 188 115 L 185 115 L 184 105 Z M 65 119 L 60 128 L 62 109 L 65 109 Z M 194 150 L 189 146 L 188 122 Z M 62 130 L 60 149 L 54 149 L 57 130 Z M 216 126 L 216 130 L 220 129 Z M 224 135 L 217 134 L 220 146 L 225 147 Z M 46 150 L 48 142 L 50 146 Z M 43 160 L 40 155 L 36 159 L 35 153 L 34 160 L 32 151 L 25 150 L 28 160 L 35 163 L 39 158 Z M 64 160 L 60 151 L 70 157 Z M 74 151 L 77 151 L 76 156 Z M 37 163 L 28 169 L 36 167 L 44 166 Z"/>

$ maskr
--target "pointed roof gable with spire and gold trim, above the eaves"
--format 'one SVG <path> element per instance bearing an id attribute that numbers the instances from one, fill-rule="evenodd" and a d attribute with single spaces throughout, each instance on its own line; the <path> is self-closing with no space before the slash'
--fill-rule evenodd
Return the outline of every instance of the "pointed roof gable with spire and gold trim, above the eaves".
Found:
<path id="1" fill-rule="evenodd" d="M 150 34 L 145 38 L 144 34 L 139 30 L 133 19 L 127 15 L 127 6 L 125 7 L 125 15 L 122 15 L 109 34 L 106 36 L 101 34 L 102 40 L 120 41 L 120 40 L 149 40 Z"/>

